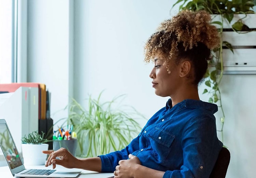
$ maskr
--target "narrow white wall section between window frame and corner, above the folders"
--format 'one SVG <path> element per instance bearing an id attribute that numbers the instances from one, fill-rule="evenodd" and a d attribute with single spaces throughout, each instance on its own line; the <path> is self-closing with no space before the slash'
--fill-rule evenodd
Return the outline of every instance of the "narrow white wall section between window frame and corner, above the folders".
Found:
<path id="1" fill-rule="evenodd" d="M 27 81 L 46 84 L 52 93 L 51 116 L 56 120 L 67 117 L 63 109 L 72 95 L 70 6 L 68 0 L 28 0 Z"/>

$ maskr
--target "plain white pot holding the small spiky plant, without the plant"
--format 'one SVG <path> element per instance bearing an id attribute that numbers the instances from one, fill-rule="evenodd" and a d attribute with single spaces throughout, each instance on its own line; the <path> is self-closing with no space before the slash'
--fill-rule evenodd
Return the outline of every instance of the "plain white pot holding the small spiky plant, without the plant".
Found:
<path id="1" fill-rule="evenodd" d="M 22 144 L 23 162 L 26 165 L 44 165 L 47 154 L 42 153 L 48 150 L 48 144 Z"/>

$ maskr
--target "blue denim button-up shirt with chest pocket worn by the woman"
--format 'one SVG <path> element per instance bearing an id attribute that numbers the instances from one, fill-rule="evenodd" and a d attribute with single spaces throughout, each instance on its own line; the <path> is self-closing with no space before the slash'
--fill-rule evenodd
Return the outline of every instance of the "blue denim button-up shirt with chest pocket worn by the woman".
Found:
<path id="1" fill-rule="evenodd" d="M 163 178 L 209 177 L 223 144 L 217 138 L 215 104 L 184 100 L 152 116 L 140 134 L 120 151 L 100 155 L 102 172 L 114 172 L 129 154 L 143 166 L 164 171 Z"/>

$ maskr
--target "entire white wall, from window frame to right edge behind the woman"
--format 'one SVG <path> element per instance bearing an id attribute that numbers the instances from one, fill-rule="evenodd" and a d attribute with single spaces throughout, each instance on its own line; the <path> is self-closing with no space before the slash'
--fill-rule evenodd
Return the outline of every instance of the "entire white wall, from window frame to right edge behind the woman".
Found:
<path id="1" fill-rule="evenodd" d="M 74 34 L 68 2 L 28 1 L 28 81 L 46 83 L 52 92 L 52 113 L 68 104 L 69 95 L 86 106 L 88 94 L 97 97 L 105 89 L 103 101 L 125 93 L 123 104 L 152 116 L 167 98 L 154 94 L 148 77 L 153 65 L 144 63 L 143 46 L 159 23 L 171 17 L 173 1 L 76 0 Z M 172 14 L 176 10 L 177 6 Z M 222 81 L 224 144 L 231 152 L 228 178 L 254 177 L 255 79 L 256 75 L 225 75 Z M 204 95 L 201 99 L 208 101 Z M 52 118 L 66 115 L 57 112 Z M 216 117 L 219 120 L 219 114 Z"/>

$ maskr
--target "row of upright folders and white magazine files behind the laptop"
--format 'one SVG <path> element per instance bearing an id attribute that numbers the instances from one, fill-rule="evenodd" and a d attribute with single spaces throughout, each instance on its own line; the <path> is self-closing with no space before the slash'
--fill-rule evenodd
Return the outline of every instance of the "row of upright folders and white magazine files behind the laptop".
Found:
<path id="1" fill-rule="evenodd" d="M 41 83 L 0 84 L 0 118 L 10 125 L 17 148 L 28 133 L 45 133 L 52 138 L 53 120 L 50 118 L 51 93 Z M 52 149 L 49 143 L 49 149 Z"/>

